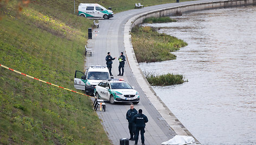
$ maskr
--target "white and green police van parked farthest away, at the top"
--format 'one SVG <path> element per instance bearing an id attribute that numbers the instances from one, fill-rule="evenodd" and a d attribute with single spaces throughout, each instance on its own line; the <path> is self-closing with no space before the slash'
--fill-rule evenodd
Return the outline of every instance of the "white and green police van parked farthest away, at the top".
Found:
<path id="1" fill-rule="evenodd" d="M 99 4 L 81 3 L 78 6 L 78 16 L 109 19 L 114 13 Z"/>

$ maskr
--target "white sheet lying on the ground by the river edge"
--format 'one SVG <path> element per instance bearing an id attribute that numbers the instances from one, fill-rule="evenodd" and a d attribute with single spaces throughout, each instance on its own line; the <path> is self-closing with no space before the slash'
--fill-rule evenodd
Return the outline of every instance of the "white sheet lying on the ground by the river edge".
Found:
<path id="1" fill-rule="evenodd" d="M 191 136 L 175 135 L 174 138 L 169 141 L 162 142 L 162 144 L 188 144 L 195 142 L 195 139 Z"/>

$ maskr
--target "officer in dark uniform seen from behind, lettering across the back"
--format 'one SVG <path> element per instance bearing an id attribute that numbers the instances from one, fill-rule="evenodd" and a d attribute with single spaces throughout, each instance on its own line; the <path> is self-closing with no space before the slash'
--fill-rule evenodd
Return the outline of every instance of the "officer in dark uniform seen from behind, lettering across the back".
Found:
<path id="1" fill-rule="evenodd" d="M 144 141 L 144 133 L 145 133 L 145 126 L 146 122 L 148 122 L 148 117 L 146 115 L 142 114 L 142 109 L 139 109 L 139 114 L 135 115 L 132 118 L 132 121 L 135 122 L 135 144 L 138 144 L 139 139 L 139 131 L 140 135 L 142 136 L 142 144 L 145 144 Z"/>

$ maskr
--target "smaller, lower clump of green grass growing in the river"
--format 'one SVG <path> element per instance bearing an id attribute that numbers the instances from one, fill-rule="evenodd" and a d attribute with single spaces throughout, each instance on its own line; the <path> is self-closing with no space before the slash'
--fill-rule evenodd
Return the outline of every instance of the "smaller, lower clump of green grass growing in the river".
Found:
<path id="1" fill-rule="evenodd" d="M 184 80 L 182 75 L 175 75 L 170 73 L 164 75 L 144 73 L 144 75 L 146 77 L 146 80 L 148 80 L 148 82 L 150 83 L 150 85 L 166 86 L 188 82 L 188 80 Z"/>

